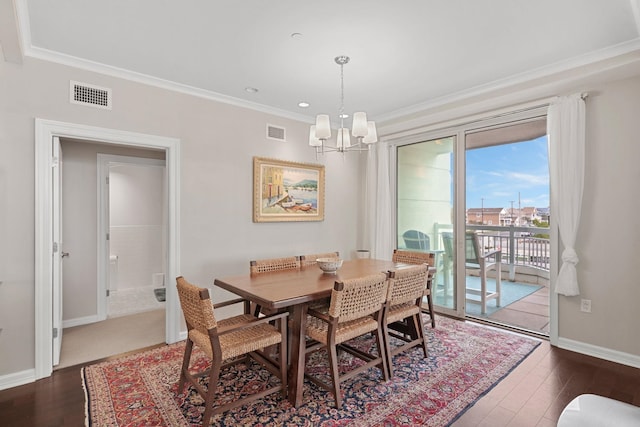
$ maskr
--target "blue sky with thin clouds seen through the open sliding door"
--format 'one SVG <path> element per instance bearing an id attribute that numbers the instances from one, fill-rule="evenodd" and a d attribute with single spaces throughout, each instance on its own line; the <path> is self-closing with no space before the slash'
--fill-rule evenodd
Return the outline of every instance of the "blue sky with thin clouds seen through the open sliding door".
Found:
<path id="1" fill-rule="evenodd" d="M 467 208 L 549 206 L 547 137 L 467 151 Z"/>

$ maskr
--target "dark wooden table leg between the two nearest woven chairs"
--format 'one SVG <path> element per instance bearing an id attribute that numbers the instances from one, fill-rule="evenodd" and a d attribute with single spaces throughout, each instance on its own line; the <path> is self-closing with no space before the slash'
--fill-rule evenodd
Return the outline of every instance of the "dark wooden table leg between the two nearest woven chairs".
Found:
<path id="1" fill-rule="evenodd" d="M 305 329 L 307 304 L 293 307 L 293 321 L 289 331 L 291 337 L 291 359 L 289 366 L 289 401 L 297 408 L 302 405 L 305 362 Z"/>

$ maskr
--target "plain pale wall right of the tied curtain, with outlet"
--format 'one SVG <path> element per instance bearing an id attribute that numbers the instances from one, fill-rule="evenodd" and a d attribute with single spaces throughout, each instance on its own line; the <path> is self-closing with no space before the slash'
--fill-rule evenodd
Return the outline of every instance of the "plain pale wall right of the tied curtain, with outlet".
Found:
<path id="1" fill-rule="evenodd" d="M 640 360 L 640 77 L 590 88 L 586 105 L 585 185 L 576 240 L 582 294 L 560 297 L 559 333 Z M 580 311 L 582 298 L 592 301 L 591 313 Z"/>

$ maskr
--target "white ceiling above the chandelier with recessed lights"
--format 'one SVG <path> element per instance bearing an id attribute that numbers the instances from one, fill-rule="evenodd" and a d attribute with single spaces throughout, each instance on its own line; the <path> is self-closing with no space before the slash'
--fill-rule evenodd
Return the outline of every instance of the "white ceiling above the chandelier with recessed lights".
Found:
<path id="1" fill-rule="evenodd" d="M 28 56 L 309 121 L 337 115 L 337 55 L 345 112 L 384 120 L 638 51 L 639 3 L 15 0 Z"/>

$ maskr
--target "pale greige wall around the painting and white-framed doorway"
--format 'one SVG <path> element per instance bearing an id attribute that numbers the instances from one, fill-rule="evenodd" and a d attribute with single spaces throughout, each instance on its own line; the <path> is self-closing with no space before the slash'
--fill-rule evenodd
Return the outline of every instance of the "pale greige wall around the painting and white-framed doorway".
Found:
<path id="1" fill-rule="evenodd" d="M 215 277 L 248 272 L 256 258 L 357 248 L 364 156 L 316 162 L 307 123 L 31 58 L 0 62 L 0 76 L 0 376 L 35 364 L 36 117 L 181 140 L 180 274 L 190 281 L 211 286 Z M 69 80 L 112 88 L 113 110 L 70 104 Z M 267 139 L 267 123 L 286 128 L 287 141 Z M 325 220 L 253 223 L 254 156 L 324 164 Z"/>

